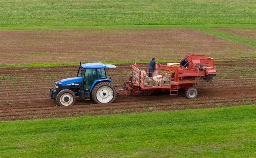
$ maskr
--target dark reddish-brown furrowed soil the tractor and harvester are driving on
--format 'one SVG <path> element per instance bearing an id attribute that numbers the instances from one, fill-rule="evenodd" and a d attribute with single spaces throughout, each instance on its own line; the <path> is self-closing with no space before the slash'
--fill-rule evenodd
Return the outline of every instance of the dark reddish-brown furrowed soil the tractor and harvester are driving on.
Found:
<path id="1" fill-rule="evenodd" d="M 0 120 L 120 114 L 157 110 L 178 110 L 235 106 L 256 103 L 256 59 L 217 61 L 217 77 L 209 84 L 200 81 L 198 97 L 190 100 L 179 91 L 150 96 L 119 96 L 108 105 L 78 100 L 72 107 L 59 107 L 50 100 L 49 87 L 59 79 L 73 77 L 77 67 L 2 68 L 0 69 Z M 131 75 L 131 65 L 117 65 L 108 72 L 117 89 Z"/>

